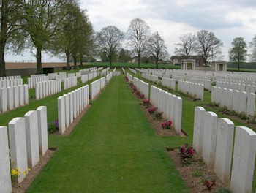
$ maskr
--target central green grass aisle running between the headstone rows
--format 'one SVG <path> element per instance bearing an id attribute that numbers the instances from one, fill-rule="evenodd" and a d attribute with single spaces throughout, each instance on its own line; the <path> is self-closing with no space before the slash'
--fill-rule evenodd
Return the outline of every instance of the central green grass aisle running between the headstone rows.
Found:
<path id="1" fill-rule="evenodd" d="M 189 192 L 166 151 L 187 137 L 157 137 L 139 103 L 113 77 L 27 192 Z"/>

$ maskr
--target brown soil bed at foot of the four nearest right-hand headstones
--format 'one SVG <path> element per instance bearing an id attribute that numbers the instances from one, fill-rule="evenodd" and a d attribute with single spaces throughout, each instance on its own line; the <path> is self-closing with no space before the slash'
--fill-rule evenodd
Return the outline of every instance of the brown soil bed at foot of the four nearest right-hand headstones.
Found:
<path id="1" fill-rule="evenodd" d="M 184 166 L 182 164 L 181 157 L 179 156 L 178 149 L 167 149 L 167 151 L 190 192 L 217 192 L 217 190 L 221 187 L 227 188 L 227 183 L 222 183 L 217 175 L 215 175 L 214 170 L 208 168 L 207 165 L 203 162 L 202 158 L 196 153 L 191 159 L 192 164 Z M 194 176 L 195 174 L 201 174 L 202 176 L 196 177 Z M 215 181 L 215 185 L 212 186 L 211 189 L 208 189 L 203 185 L 203 181 L 205 181 L 206 176 Z"/>

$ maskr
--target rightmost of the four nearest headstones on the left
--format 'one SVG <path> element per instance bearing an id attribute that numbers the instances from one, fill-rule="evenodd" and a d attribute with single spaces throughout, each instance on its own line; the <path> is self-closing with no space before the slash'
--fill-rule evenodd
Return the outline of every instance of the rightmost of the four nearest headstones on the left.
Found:
<path id="1" fill-rule="evenodd" d="M 48 150 L 47 107 L 37 108 L 39 153 L 44 155 Z"/>

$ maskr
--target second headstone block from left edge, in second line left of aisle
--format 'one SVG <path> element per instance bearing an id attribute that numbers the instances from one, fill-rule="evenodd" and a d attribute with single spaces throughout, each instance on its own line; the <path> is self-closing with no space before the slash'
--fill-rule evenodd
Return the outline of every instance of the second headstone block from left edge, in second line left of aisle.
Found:
<path id="1" fill-rule="evenodd" d="M 61 91 L 61 80 L 48 80 L 36 83 L 36 99 L 43 99 Z"/>

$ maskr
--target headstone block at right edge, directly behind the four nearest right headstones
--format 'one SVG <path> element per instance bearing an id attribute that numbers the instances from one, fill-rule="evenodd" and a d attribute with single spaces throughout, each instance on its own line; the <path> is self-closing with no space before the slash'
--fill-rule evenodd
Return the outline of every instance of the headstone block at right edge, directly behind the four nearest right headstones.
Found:
<path id="1" fill-rule="evenodd" d="M 211 88 L 211 102 L 219 104 L 220 107 L 226 106 L 228 110 L 236 113 L 246 113 L 248 116 L 255 116 L 255 94 L 232 89 L 213 86 Z"/>

